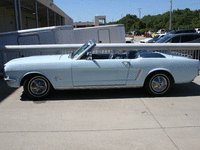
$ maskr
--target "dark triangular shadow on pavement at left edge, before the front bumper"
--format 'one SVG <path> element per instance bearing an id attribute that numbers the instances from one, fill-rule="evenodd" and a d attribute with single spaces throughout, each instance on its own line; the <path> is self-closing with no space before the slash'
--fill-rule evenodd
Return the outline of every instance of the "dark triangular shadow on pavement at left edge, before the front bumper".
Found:
<path id="1" fill-rule="evenodd" d="M 3 80 L 3 77 L 0 77 L 0 103 L 5 100 L 6 97 L 11 95 L 16 88 L 10 88 L 6 82 Z"/>

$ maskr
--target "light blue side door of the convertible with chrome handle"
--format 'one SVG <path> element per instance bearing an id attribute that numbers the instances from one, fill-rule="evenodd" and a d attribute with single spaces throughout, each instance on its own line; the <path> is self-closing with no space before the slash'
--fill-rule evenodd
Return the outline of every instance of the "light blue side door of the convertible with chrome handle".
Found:
<path id="1" fill-rule="evenodd" d="M 73 85 L 75 87 L 126 85 L 129 67 L 129 59 L 74 60 Z"/>

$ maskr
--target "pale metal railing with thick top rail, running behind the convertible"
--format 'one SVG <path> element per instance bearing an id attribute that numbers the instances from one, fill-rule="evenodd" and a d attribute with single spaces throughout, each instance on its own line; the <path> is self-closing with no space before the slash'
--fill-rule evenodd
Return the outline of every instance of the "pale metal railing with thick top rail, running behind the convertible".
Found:
<path id="1" fill-rule="evenodd" d="M 69 54 L 82 44 L 56 44 L 56 45 L 6 45 L 0 46 L 0 73 L 3 65 L 14 58 L 34 56 Z M 193 59 L 200 59 L 199 43 L 155 43 L 155 44 L 97 44 L 94 53 L 123 53 L 128 50 L 160 51 L 176 54 Z"/>

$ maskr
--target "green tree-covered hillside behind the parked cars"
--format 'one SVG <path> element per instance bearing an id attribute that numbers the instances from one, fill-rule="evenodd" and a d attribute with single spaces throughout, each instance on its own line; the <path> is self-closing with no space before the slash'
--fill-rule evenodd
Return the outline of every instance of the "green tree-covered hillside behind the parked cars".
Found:
<path id="1" fill-rule="evenodd" d="M 144 16 L 142 19 L 137 18 L 136 15 L 126 15 L 122 19 L 116 22 L 110 22 L 108 24 L 124 24 L 126 31 L 146 31 L 165 28 L 169 30 L 170 12 L 164 14 L 158 14 L 155 16 Z M 172 12 L 172 29 L 189 29 L 200 28 L 200 11 L 192 11 L 189 8 L 184 10 L 173 10 Z"/>

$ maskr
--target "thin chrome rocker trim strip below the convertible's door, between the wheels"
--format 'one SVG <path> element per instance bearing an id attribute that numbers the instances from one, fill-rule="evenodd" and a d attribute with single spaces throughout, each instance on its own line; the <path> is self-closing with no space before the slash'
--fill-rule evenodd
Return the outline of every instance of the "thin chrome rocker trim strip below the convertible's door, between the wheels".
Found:
<path id="1" fill-rule="evenodd" d="M 143 85 L 123 85 L 123 86 L 81 86 L 81 87 L 58 87 L 56 90 L 78 90 L 78 89 L 114 89 L 114 88 L 141 88 Z"/>

